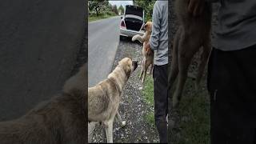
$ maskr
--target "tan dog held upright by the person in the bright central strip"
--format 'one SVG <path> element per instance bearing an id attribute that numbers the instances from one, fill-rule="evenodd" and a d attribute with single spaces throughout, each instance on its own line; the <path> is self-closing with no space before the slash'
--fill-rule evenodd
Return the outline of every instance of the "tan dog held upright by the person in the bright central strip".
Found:
<path id="1" fill-rule="evenodd" d="M 154 52 L 147 54 L 146 49 L 145 49 L 146 44 L 148 42 L 150 42 L 150 35 L 152 32 L 152 22 L 146 22 L 146 24 L 144 25 L 144 28 L 145 28 L 146 32 L 145 32 L 145 34 L 143 34 L 143 36 L 137 34 L 137 35 L 134 35 L 134 37 L 132 38 L 133 42 L 138 40 L 139 42 L 143 43 L 142 70 L 141 70 L 141 74 L 139 76 L 139 78 L 142 80 L 142 82 L 145 81 L 146 71 L 147 71 L 148 67 L 150 66 L 150 74 L 152 74 L 152 70 L 153 70 L 153 66 L 154 66 Z"/>

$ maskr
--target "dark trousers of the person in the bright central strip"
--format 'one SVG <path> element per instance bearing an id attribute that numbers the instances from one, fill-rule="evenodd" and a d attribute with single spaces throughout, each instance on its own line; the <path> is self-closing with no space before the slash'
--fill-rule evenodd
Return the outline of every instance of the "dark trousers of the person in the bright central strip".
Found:
<path id="1" fill-rule="evenodd" d="M 161 143 L 167 143 L 167 122 L 166 115 L 168 112 L 167 100 L 167 64 L 162 66 L 154 65 L 154 119 L 158 129 Z"/>

